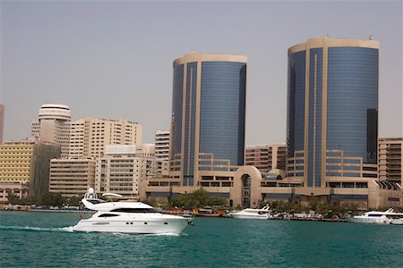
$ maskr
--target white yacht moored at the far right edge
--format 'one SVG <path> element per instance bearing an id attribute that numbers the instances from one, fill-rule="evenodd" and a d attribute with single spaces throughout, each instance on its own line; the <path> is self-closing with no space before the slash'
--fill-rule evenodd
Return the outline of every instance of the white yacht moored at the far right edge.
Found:
<path id="1" fill-rule="evenodd" d="M 403 225 L 403 214 L 396 213 L 393 208 L 390 208 L 385 212 L 370 211 L 359 216 L 348 216 L 346 220 L 347 222 Z"/>

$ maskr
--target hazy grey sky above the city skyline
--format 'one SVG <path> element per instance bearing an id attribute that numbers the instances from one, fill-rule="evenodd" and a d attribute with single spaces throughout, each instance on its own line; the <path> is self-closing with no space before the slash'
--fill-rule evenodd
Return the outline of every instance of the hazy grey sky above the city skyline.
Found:
<path id="1" fill-rule="evenodd" d="M 73 120 L 167 130 L 172 62 L 193 50 L 245 54 L 246 144 L 285 141 L 287 48 L 306 38 L 381 41 L 380 137 L 402 137 L 401 1 L 1 1 L 4 140 L 30 136 L 40 105 Z"/>

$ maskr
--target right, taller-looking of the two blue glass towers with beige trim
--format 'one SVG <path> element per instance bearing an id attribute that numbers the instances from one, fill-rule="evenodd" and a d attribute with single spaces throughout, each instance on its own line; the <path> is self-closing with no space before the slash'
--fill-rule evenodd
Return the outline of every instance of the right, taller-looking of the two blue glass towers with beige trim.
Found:
<path id="1" fill-rule="evenodd" d="M 312 38 L 288 49 L 288 178 L 366 188 L 377 177 L 379 46 Z"/>

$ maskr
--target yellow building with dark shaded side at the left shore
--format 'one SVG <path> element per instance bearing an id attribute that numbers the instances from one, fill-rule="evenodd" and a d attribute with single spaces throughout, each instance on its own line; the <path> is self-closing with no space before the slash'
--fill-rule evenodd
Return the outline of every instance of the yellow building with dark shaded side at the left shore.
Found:
<path id="1" fill-rule="evenodd" d="M 47 193 L 49 161 L 55 157 L 60 157 L 60 147 L 38 139 L 5 142 L 0 145 L 0 183 L 29 186 L 30 195 Z M 21 190 L 21 197 L 26 196 L 26 188 Z"/>

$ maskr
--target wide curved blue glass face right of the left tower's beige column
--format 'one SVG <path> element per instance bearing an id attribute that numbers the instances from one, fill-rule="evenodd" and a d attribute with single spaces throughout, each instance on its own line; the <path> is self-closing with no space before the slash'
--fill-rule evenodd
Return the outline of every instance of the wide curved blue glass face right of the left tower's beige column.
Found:
<path id="1" fill-rule="evenodd" d="M 244 164 L 245 63 L 201 63 L 200 153 Z"/>

